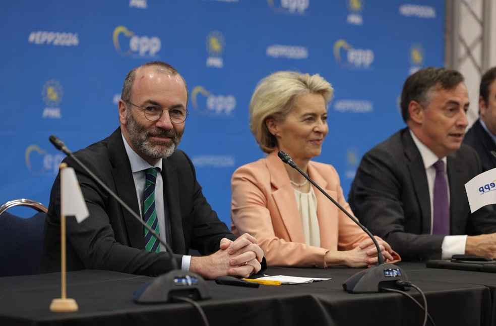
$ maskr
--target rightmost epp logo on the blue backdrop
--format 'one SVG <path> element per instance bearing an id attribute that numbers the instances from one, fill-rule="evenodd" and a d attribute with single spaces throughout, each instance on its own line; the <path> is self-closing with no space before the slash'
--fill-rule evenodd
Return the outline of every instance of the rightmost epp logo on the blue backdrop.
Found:
<path id="1" fill-rule="evenodd" d="M 343 39 L 334 43 L 333 50 L 336 62 L 345 67 L 367 69 L 374 62 L 373 50 L 354 48 Z"/>

